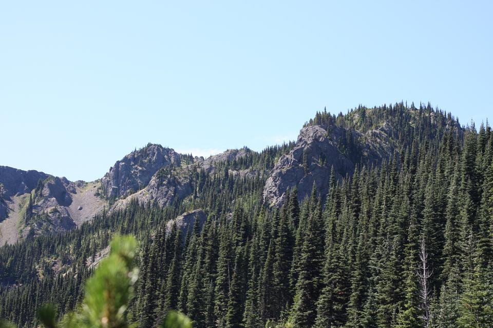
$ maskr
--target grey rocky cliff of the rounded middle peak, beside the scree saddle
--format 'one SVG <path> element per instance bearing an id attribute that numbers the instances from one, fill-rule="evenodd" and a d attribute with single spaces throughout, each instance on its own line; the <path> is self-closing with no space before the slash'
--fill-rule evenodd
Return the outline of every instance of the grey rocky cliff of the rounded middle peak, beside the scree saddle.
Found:
<path id="1" fill-rule="evenodd" d="M 170 165 L 180 165 L 180 155 L 173 149 L 149 144 L 131 152 L 102 178 L 103 195 L 114 199 L 135 193 L 147 186 L 160 168 Z"/>

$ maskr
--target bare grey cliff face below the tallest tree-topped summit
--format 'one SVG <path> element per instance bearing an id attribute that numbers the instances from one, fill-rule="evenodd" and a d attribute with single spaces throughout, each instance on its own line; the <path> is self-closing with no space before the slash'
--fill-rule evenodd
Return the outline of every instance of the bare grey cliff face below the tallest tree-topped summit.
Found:
<path id="1" fill-rule="evenodd" d="M 369 134 L 335 125 L 302 128 L 295 148 L 279 158 L 271 171 L 263 191 L 264 201 L 280 206 L 287 190 L 295 186 L 301 200 L 310 194 L 314 183 L 318 194 L 326 195 L 332 167 L 335 177 L 340 179 L 351 175 L 357 163 L 377 163 L 392 153 L 386 134 L 378 132 L 380 137 L 373 137 L 372 141 Z"/>

